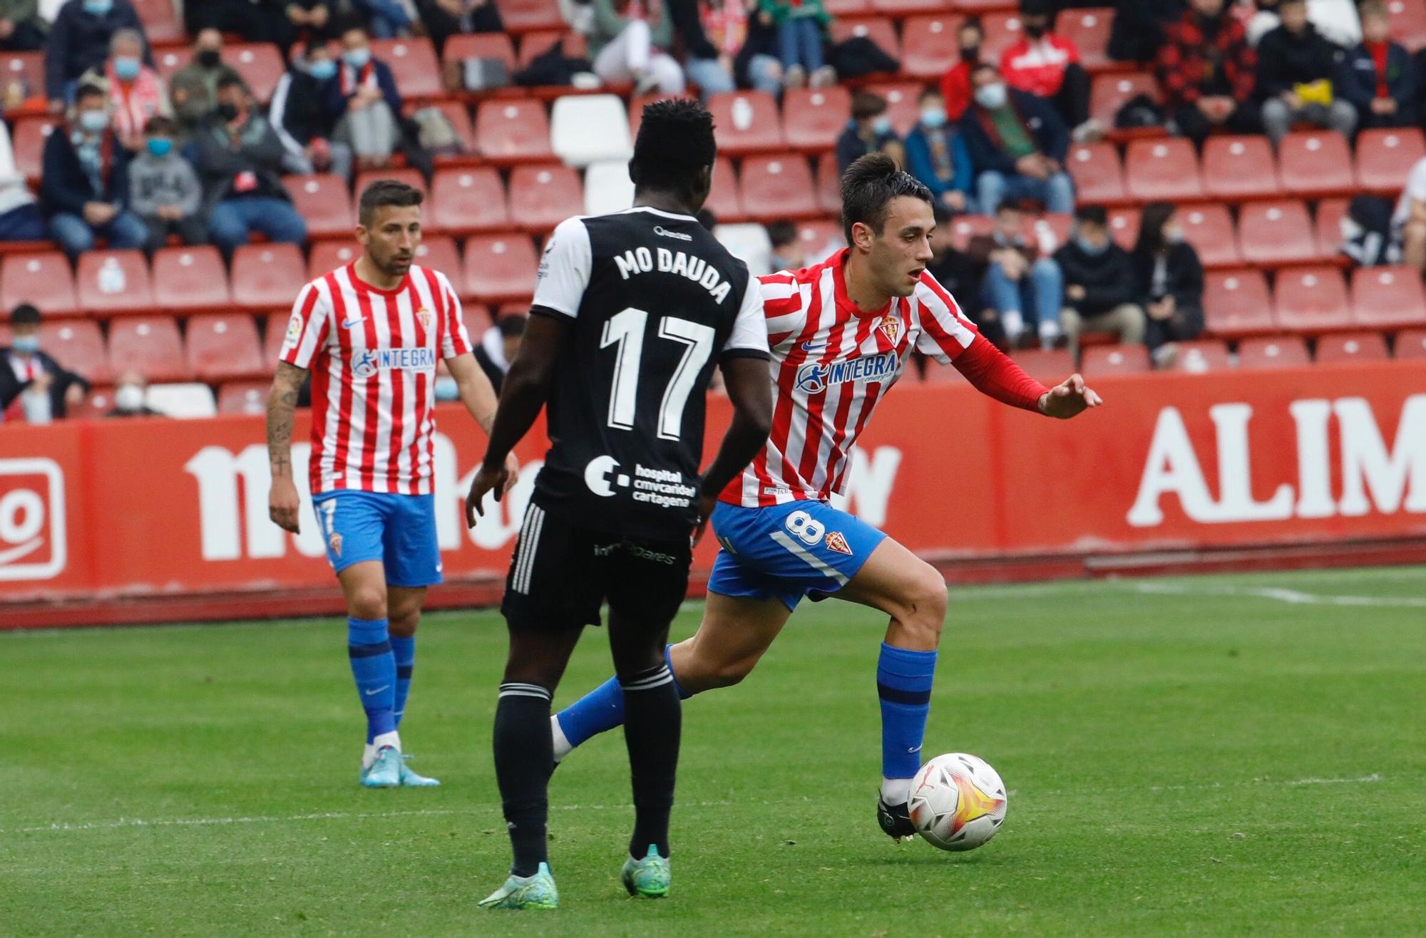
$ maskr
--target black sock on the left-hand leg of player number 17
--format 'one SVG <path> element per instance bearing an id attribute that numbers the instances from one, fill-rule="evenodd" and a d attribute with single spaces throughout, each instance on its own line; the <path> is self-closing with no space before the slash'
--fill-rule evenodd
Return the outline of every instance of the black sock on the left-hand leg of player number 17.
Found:
<path id="1" fill-rule="evenodd" d="M 501 785 L 505 825 L 515 862 L 511 872 L 532 877 L 549 861 L 549 690 L 539 684 L 501 684 L 495 707 L 495 780 Z"/>

